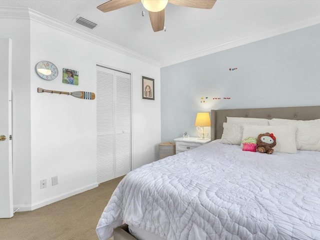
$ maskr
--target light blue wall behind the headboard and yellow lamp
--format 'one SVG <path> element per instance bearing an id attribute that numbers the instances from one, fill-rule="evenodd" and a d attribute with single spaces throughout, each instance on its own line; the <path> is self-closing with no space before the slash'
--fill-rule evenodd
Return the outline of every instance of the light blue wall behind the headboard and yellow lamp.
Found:
<path id="1" fill-rule="evenodd" d="M 320 105 L 319 76 L 320 24 L 163 67 L 161 141 L 197 136 L 200 111 Z"/>

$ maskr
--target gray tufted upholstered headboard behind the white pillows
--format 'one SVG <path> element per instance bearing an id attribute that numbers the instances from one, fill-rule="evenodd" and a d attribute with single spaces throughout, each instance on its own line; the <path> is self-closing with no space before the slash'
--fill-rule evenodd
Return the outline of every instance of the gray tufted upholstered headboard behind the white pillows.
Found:
<path id="1" fill-rule="evenodd" d="M 221 138 L 223 122 L 226 122 L 226 116 L 312 120 L 320 118 L 320 106 L 211 110 L 211 140 Z"/>

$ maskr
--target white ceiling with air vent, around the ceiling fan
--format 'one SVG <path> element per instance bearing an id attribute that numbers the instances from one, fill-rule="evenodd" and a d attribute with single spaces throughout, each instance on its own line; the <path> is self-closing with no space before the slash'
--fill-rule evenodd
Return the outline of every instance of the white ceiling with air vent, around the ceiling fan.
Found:
<path id="1" fill-rule="evenodd" d="M 0 0 L 28 7 L 158 61 L 161 66 L 320 23 L 320 0 L 217 0 L 212 9 L 168 3 L 166 31 L 153 32 L 140 2 L 103 13 L 107 0 Z M 97 23 L 89 29 L 72 19 Z M 319 33 L 320 34 L 320 33 Z"/>

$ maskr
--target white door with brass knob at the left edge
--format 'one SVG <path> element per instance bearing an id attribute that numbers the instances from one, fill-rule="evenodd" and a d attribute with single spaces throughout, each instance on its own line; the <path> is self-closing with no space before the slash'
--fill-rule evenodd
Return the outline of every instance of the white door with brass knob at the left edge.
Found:
<path id="1" fill-rule="evenodd" d="M 0 38 L 0 218 L 13 216 L 11 39 Z"/>

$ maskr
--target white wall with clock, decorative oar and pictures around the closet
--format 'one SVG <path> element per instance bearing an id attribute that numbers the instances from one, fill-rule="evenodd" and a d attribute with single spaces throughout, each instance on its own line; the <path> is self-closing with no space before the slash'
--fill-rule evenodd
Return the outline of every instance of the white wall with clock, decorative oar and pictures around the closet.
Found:
<path id="1" fill-rule="evenodd" d="M 42 15 L 30 11 L 30 21 L 0 19 L 0 36 L 12 38 L 13 65 L 20 62 L 20 56 L 26 61 L 23 73 L 12 74 L 15 93 L 12 102 L 23 105 L 23 110 L 13 105 L 13 134 L 19 131 L 23 136 L 20 141 L 13 138 L 13 145 L 16 144 L 14 205 L 22 210 L 34 209 L 97 185 L 96 101 L 38 93 L 37 87 L 96 92 L 96 64 L 127 71 L 132 75 L 132 167 L 156 160 L 160 142 L 159 67 L 102 46 L 101 39 L 95 43 L 94 36 L 87 33 L 74 29 L 68 33 L 68 26 L 59 26 L 52 19 L 42 21 Z M 20 22 L 26 25 L 23 31 L 20 31 Z M 29 46 L 22 47 L 25 42 Z M 58 67 L 57 78 L 46 81 L 36 75 L 34 66 L 40 60 L 51 61 Z M 78 70 L 79 85 L 62 83 L 62 68 Z M 154 101 L 141 99 L 141 75 L 155 79 Z M 25 113 L 23 117 L 20 111 Z M 24 153 L 28 159 L 16 157 Z M 22 172 L 23 179 L 18 177 Z M 51 186 L 51 176 L 56 175 L 58 185 Z M 46 188 L 40 189 L 41 179 L 47 179 Z M 28 200 L 22 200 L 24 198 Z"/>

